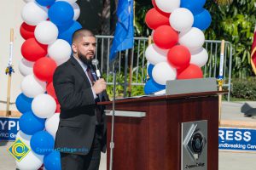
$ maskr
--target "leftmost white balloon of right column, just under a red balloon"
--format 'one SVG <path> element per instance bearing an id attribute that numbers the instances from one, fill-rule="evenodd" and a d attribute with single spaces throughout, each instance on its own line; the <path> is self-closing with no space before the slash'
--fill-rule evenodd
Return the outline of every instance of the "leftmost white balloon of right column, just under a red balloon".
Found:
<path id="1" fill-rule="evenodd" d="M 152 65 L 156 65 L 160 62 L 166 62 L 167 61 L 167 53 L 168 49 L 161 49 L 157 47 L 154 43 L 150 44 L 148 48 L 145 51 L 146 59 L 148 59 L 148 62 Z"/>

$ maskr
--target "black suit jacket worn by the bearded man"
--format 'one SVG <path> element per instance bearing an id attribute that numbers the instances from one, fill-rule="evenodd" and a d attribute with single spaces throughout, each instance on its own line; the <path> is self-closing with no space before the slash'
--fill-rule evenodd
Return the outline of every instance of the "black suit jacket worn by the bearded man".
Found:
<path id="1" fill-rule="evenodd" d="M 96 105 L 89 81 L 73 56 L 55 70 L 53 83 L 61 105 L 55 149 L 61 152 L 86 155 L 90 151 L 96 129 L 96 109 L 102 111 L 102 151 L 106 151 L 106 116 L 104 108 Z M 106 91 L 102 96 L 107 98 L 102 100 L 108 100 Z"/>

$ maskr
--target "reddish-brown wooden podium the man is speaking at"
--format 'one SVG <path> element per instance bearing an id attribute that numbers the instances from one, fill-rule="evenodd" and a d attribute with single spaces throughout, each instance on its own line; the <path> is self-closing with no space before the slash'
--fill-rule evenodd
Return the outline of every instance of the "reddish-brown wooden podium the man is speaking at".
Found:
<path id="1" fill-rule="evenodd" d="M 207 169 L 218 170 L 218 94 L 205 92 L 116 100 L 116 111 L 141 111 L 142 117 L 115 116 L 113 170 L 180 170 L 181 123 L 207 120 Z M 112 102 L 102 102 L 112 110 Z M 108 168 L 111 116 L 108 116 Z"/>

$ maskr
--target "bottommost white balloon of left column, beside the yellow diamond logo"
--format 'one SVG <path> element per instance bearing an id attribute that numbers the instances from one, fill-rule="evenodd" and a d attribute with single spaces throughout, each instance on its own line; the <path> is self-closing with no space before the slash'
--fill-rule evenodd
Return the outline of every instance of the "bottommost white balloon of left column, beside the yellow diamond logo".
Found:
<path id="1" fill-rule="evenodd" d="M 19 162 L 16 161 L 16 166 L 20 170 L 36 170 L 43 165 L 44 156 L 39 156 L 32 150 Z"/>

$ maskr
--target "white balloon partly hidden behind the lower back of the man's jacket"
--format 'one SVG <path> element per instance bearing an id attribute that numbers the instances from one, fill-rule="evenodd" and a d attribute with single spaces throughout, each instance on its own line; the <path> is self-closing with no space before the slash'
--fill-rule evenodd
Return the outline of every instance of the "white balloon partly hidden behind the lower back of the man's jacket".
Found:
<path id="1" fill-rule="evenodd" d="M 59 122 L 60 122 L 60 113 L 55 113 L 53 116 L 50 116 L 45 121 L 45 129 L 54 137 L 54 139 L 59 127 Z"/>

